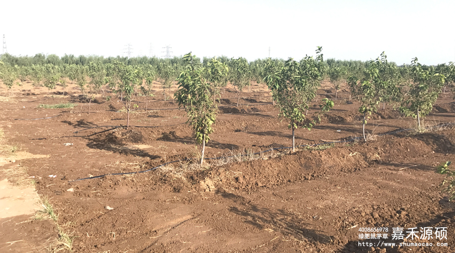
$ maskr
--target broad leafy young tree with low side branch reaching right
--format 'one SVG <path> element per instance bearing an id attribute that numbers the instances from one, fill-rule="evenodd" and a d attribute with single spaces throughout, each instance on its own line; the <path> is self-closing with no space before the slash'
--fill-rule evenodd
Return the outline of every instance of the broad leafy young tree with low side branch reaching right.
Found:
<path id="1" fill-rule="evenodd" d="M 317 51 L 321 53 L 321 48 Z M 311 83 L 315 80 L 320 80 L 323 75 L 323 58 L 313 59 L 307 57 L 306 63 L 314 61 L 315 68 L 304 69 L 299 62 L 289 58 L 284 64 L 284 67 L 278 69 L 277 72 L 268 75 L 265 81 L 272 91 L 272 97 L 276 101 L 276 106 L 280 109 L 280 117 L 286 118 L 289 122 L 288 128 L 292 129 L 292 152 L 295 152 L 295 130 L 301 126 L 302 128 L 311 128 L 319 123 L 321 115 L 329 111 L 334 103 L 332 100 L 323 99 L 320 105 L 321 112 L 309 118 L 305 116 L 305 110 L 308 109 L 308 101 L 315 97 L 315 90 L 310 89 Z M 321 61 L 321 62 L 319 62 Z M 305 73 L 304 73 L 305 72 Z"/>

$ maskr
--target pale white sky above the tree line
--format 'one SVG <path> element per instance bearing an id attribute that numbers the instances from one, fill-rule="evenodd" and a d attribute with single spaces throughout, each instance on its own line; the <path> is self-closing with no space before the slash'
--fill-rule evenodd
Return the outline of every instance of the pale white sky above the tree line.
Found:
<path id="1" fill-rule="evenodd" d="M 455 61 L 455 1 L 12 1 L 0 4 L 8 53 L 257 58 L 314 55 L 397 64 Z M 1 52 L 0 52 L 1 53 Z"/>

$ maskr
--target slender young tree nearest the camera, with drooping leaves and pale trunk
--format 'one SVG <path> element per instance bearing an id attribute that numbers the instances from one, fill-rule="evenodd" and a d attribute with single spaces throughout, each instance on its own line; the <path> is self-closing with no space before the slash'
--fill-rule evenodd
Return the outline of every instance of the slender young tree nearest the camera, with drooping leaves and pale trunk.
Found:
<path id="1" fill-rule="evenodd" d="M 196 56 L 191 52 L 184 56 L 185 71 L 177 78 L 178 90 L 174 96 L 178 107 L 184 107 L 188 123 L 195 131 L 196 143 L 202 144 L 201 161 L 204 161 L 205 144 L 213 133 L 212 124 L 215 122 L 216 104 L 211 96 L 210 83 L 204 79 L 204 69 L 199 67 Z M 218 78 L 218 77 L 216 77 Z"/>

